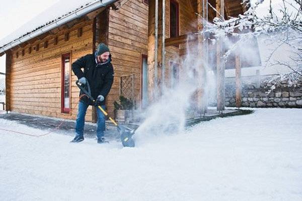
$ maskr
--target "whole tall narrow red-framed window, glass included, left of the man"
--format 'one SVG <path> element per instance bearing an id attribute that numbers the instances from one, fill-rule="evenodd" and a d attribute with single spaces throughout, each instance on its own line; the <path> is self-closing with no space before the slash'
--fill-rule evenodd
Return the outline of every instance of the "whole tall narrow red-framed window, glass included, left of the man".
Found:
<path id="1" fill-rule="evenodd" d="M 61 112 L 70 112 L 70 53 L 62 55 Z"/>

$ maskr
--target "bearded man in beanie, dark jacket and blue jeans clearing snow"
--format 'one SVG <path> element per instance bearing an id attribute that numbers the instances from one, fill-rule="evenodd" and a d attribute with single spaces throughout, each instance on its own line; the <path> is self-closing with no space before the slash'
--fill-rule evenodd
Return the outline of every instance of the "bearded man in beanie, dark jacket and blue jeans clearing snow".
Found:
<path id="1" fill-rule="evenodd" d="M 81 68 L 84 68 L 84 72 Z M 94 100 L 96 100 L 96 104 L 86 96 L 79 102 L 79 111 L 77 121 L 75 122 L 75 137 L 71 142 L 81 142 L 84 140 L 83 134 L 86 111 L 89 105 L 94 105 L 98 115 L 98 143 L 104 143 L 106 142 L 104 140 L 105 115 L 97 106 L 100 105 L 105 109 L 105 98 L 113 83 L 114 74 L 109 48 L 103 43 L 99 44 L 94 55 L 88 54 L 75 61 L 72 64 L 72 71 L 78 77 L 81 84 L 87 85 L 87 82 L 89 83 L 91 95 Z M 80 92 L 80 95 L 81 94 Z"/>

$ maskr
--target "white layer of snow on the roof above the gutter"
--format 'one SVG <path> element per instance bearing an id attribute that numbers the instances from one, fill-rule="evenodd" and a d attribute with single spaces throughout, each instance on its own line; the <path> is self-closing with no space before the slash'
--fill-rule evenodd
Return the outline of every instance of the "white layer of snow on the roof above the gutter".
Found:
<path id="1" fill-rule="evenodd" d="M 0 48 L 38 30 L 42 27 L 51 24 L 62 17 L 74 13 L 75 11 L 93 4 L 100 0 L 61 0 L 45 10 L 43 13 L 38 14 L 35 18 L 21 26 L 12 34 L 0 40 Z"/>

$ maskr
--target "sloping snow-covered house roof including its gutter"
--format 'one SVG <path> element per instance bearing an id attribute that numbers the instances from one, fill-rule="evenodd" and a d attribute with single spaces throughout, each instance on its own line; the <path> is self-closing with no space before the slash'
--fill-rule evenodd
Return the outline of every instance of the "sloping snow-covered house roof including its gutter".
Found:
<path id="1" fill-rule="evenodd" d="M 73 20 L 74 16 L 81 17 L 91 12 L 92 9 L 95 10 L 116 1 L 117 0 L 61 0 L 21 26 L 18 30 L 1 39 L 0 54 L 20 43 L 24 43 L 31 38 Z"/>

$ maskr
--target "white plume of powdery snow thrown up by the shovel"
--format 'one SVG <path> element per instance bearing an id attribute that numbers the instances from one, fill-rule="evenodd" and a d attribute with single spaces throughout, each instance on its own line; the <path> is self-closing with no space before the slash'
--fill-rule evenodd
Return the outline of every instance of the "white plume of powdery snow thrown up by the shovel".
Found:
<path id="1" fill-rule="evenodd" d="M 212 98 L 215 93 L 215 80 L 211 65 L 204 57 L 198 55 L 198 48 L 200 48 L 199 44 L 188 43 L 186 44 L 187 54 L 184 57 L 173 58 L 168 62 L 168 64 L 176 63 L 177 69 L 174 69 L 173 65 L 166 67 L 170 72 L 167 78 L 170 80 L 166 82 L 169 84 L 162 89 L 162 95 L 156 98 L 157 101 L 150 105 L 142 115 L 144 121 L 134 135 L 136 144 L 150 141 L 146 138 L 156 139 L 155 136 L 182 132 L 189 111 L 203 115 L 197 104 L 196 93 L 203 88 L 201 93 Z M 178 70 L 179 72 L 176 72 Z M 200 80 L 205 80 L 205 82 L 201 83 Z"/>

